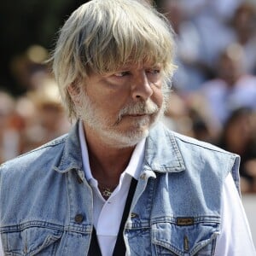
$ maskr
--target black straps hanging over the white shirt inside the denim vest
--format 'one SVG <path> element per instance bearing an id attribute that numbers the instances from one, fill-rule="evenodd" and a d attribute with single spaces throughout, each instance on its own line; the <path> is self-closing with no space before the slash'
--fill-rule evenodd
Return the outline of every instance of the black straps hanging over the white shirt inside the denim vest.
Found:
<path id="1" fill-rule="evenodd" d="M 130 189 L 127 195 L 127 199 L 125 202 L 125 209 L 123 212 L 123 217 L 119 226 L 119 233 L 117 236 L 117 240 L 113 249 L 113 256 L 122 256 L 125 255 L 125 241 L 123 236 L 123 231 L 125 229 L 125 222 L 128 218 L 130 208 L 131 208 L 131 201 L 133 198 L 133 195 L 135 193 L 135 189 L 137 186 L 137 180 L 132 177 Z M 99 247 L 99 243 L 96 236 L 96 230 L 93 227 L 92 234 L 91 234 L 91 241 L 90 241 L 90 248 L 89 248 L 89 254 L 90 256 L 102 256 L 101 249 Z"/>

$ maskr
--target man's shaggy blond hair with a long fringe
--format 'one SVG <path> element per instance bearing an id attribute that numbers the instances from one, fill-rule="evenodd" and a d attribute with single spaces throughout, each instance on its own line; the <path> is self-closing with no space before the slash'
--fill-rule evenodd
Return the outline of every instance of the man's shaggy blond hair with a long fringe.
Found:
<path id="1" fill-rule="evenodd" d="M 160 63 L 165 84 L 172 78 L 172 28 L 150 4 L 137 0 L 92 0 L 76 9 L 61 28 L 52 55 L 64 107 L 76 117 L 67 87 L 90 73 L 108 73 L 129 62 Z"/>

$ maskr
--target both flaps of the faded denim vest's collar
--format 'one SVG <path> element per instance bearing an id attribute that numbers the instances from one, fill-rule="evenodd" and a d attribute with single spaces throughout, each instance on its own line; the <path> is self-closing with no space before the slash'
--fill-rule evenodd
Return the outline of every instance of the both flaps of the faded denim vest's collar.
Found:
<path id="1" fill-rule="evenodd" d="M 72 169 L 83 169 L 79 143 L 79 122 L 68 133 L 61 159 L 54 169 L 61 173 Z M 146 139 L 143 169 L 154 172 L 182 172 L 185 170 L 182 154 L 177 147 L 174 134 L 161 123 L 154 125 Z"/>

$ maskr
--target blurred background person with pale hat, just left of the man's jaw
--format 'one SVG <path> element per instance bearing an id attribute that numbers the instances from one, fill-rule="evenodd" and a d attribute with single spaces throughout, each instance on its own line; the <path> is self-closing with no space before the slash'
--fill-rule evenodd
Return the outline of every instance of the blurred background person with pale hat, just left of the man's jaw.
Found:
<path id="1" fill-rule="evenodd" d="M 41 82 L 42 83 L 42 82 Z M 44 84 L 26 94 L 32 102 L 35 113 L 29 125 L 22 131 L 22 153 L 43 145 L 69 130 L 58 87 L 53 79 L 44 79 Z"/>

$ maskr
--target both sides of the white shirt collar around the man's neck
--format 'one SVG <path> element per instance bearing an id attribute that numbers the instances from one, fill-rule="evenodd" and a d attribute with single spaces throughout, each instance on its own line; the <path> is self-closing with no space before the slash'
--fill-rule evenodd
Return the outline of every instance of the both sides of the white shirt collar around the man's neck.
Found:
<path id="1" fill-rule="evenodd" d="M 96 180 L 92 176 L 90 170 L 88 148 L 86 144 L 86 138 L 84 136 L 84 125 L 81 120 L 79 121 L 79 142 L 82 152 L 85 177 L 88 182 L 92 181 L 93 183 L 95 183 Z M 144 138 L 141 142 L 137 143 L 136 148 L 133 150 L 133 153 L 131 154 L 131 160 L 124 170 L 125 174 L 129 174 L 131 177 L 134 177 L 136 179 L 139 178 L 143 166 L 145 142 L 146 139 Z"/>

